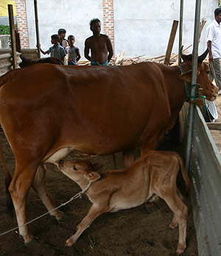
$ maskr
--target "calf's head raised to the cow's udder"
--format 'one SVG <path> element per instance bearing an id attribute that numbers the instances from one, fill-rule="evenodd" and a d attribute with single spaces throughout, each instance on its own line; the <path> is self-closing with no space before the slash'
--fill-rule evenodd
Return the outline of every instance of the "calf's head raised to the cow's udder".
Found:
<path id="1" fill-rule="evenodd" d="M 77 160 L 77 161 L 60 161 L 57 165 L 58 169 L 61 170 L 66 176 L 73 181 L 89 182 L 97 181 L 100 178 L 99 170 L 102 165 L 99 163 L 91 164 L 88 160 Z"/>

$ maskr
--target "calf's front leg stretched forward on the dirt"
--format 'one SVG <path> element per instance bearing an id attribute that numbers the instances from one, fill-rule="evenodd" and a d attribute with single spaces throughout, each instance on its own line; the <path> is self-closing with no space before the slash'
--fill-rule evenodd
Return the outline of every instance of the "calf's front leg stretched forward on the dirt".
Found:
<path id="1" fill-rule="evenodd" d="M 85 229 L 87 229 L 91 223 L 104 212 L 108 212 L 108 207 L 94 207 L 93 204 L 88 212 L 88 215 L 86 215 L 85 218 L 83 218 L 83 221 L 81 221 L 81 223 L 77 226 L 77 232 L 66 241 L 66 246 L 72 246 L 74 243 L 76 243 L 77 239 L 85 231 Z"/>

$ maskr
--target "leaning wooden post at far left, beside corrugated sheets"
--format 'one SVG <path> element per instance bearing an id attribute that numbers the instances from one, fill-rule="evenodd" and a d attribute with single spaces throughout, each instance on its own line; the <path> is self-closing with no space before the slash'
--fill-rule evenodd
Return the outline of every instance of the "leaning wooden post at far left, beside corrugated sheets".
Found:
<path id="1" fill-rule="evenodd" d="M 10 18 L 10 36 L 11 36 L 11 47 L 12 47 L 12 56 L 13 56 L 13 69 L 17 69 L 18 63 L 16 58 L 16 38 L 15 38 L 15 24 L 13 16 L 13 5 L 7 4 L 8 14 Z"/>

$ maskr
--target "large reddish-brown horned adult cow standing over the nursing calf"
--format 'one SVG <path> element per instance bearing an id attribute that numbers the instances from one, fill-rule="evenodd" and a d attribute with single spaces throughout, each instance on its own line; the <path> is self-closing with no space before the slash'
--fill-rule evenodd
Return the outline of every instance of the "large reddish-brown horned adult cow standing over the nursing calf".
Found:
<path id="1" fill-rule="evenodd" d="M 203 63 L 207 52 L 198 58 L 197 83 L 215 100 L 218 89 Z M 27 223 L 31 186 L 47 210 L 55 207 L 42 193 L 41 165 L 71 152 L 102 156 L 140 145 L 142 154 L 158 147 L 186 100 L 183 80 L 191 82 L 192 55 L 183 60 L 182 75 L 178 66 L 150 62 L 76 69 L 46 63 L 0 77 L 0 123 L 15 155 L 13 179 L 4 172 L 18 226 Z M 51 214 L 62 217 L 59 210 Z M 32 241 L 27 225 L 19 232 L 25 243 Z"/>

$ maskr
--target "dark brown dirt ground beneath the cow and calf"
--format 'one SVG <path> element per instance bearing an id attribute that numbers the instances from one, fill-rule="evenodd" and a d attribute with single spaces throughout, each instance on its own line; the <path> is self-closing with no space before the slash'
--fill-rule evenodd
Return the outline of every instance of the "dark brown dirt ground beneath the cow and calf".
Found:
<path id="1" fill-rule="evenodd" d="M 217 111 L 221 116 L 221 97 L 216 101 Z M 220 122 L 220 117 L 218 122 Z M 219 132 L 220 133 L 220 132 Z M 15 162 L 4 133 L 1 131 L 1 144 L 4 160 L 13 173 Z M 216 140 L 219 140 L 216 136 Z M 221 142 L 219 141 L 220 145 Z M 138 152 L 137 152 L 138 153 Z M 72 154 L 69 159 L 79 156 Z M 96 158 L 92 162 L 102 162 L 103 170 L 113 169 L 112 156 Z M 122 154 L 116 154 L 117 168 L 122 168 Z M 80 187 L 63 175 L 57 168 L 49 167 L 46 180 L 49 193 L 57 206 L 69 201 L 69 198 L 80 192 Z M 178 187 L 182 190 L 182 179 L 178 179 Z M 0 171 L 0 233 L 16 227 L 15 215 L 10 218 L 6 212 L 6 196 L 4 188 L 4 173 Z M 197 240 L 195 237 L 192 219 L 192 206 L 190 198 L 185 199 L 189 207 L 187 221 L 187 248 L 183 255 L 197 255 Z M 0 255 L 175 255 L 178 245 L 178 228 L 169 229 L 172 221 L 172 211 L 164 201 L 159 201 L 158 210 L 148 213 L 145 205 L 129 210 L 106 213 L 94 221 L 83 232 L 77 243 L 71 248 L 65 247 L 65 241 L 76 229 L 77 224 L 87 214 L 91 203 L 88 198 L 78 198 L 70 204 L 61 207 L 65 217 L 60 224 L 50 215 L 46 215 L 29 224 L 36 241 L 24 246 L 23 238 L 18 235 L 18 229 L 0 236 Z M 46 212 L 41 200 L 31 189 L 27 200 L 27 214 L 29 220 Z"/>

